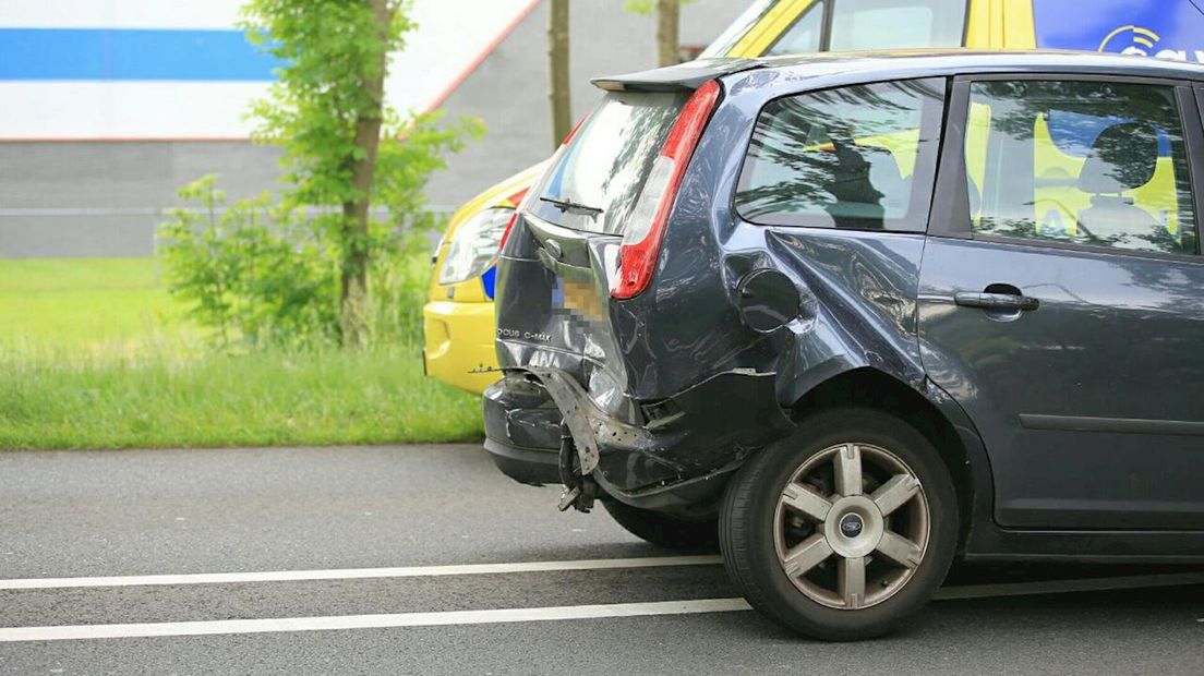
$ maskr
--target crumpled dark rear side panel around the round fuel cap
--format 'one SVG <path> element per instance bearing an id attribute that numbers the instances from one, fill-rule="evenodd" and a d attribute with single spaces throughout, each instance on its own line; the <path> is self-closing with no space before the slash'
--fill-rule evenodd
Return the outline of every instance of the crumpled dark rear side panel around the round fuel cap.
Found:
<path id="1" fill-rule="evenodd" d="M 654 286 L 610 303 L 635 399 L 668 398 L 732 369 L 777 373 L 787 407 L 854 368 L 922 385 L 915 330 L 922 235 L 752 225 L 731 202 L 761 107 L 796 89 L 769 83 L 720 107 L 683 180 Z M 787 275 L 802 297 L 799 318 L 768 334 L 745 326 L 738 310 L 739 280 L 761 268 Z"/>

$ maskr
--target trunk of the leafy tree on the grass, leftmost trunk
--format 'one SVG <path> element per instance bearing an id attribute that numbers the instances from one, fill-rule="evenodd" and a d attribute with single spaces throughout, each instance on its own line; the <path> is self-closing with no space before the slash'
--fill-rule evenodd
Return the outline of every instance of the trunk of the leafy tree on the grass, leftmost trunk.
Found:
<path id="1" fill-rule="evenodd" d="M 376 16 L 378 38 L 388 40 L 393 11 L 389 0 L 367 0 Z M 341 271 L 340 324 L 343 345 L 360 348 L 367 343 L 367 267 L 368 267 L 368 204 L 376 173 L 377 147 L 380 143 L 380 123 L 384 117 L 384 77 L 389 55 L 380 53 L 372 72 L 365 72 L 364 90 L 374 106 L 355 119 L 355 147 L 364 150 L 352 160 L 352 184 L 358 198 L 343 203 L 343 261 Z"/>

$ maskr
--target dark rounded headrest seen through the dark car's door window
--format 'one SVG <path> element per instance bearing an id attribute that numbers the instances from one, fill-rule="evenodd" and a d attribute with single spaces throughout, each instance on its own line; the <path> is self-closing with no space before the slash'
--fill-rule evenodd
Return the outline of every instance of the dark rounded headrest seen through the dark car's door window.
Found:
<path id="1" fill-rule="evenodd" d="M 1158 132 L 1149 124 L 1109 126 L 1091 146 L 1079 174 L 1079 190 L 1093 195 L 1140 188 L 1158 167 Z"/>

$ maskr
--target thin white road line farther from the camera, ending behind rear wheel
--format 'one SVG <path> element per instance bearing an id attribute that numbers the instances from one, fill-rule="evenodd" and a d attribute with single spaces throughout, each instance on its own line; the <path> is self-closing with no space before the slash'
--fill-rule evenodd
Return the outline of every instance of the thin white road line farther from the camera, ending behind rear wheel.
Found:
<path id="1" fill-rule="evenodd" d="M 371 577 L 439 577 L 444 575 L 496 575 L 560 570 L 607 570 L 671 565 L 714 565 L 719 556 L 665 556 L 595 558 L 582 561 L 531 561 L 462 565 L 409 565 L 402 568 L 344 568 L 332 570 L 271 570 L 258 573 L 196 573 L 179 575 L 122 575 L 110 577 L 26 577 L 0 580 L 0 589 L 64 589 L 75 587 L 141 587 L 159 585 L 230 585 L 236 582 L 291 582 L 296 580 L 356 580 Z"/>

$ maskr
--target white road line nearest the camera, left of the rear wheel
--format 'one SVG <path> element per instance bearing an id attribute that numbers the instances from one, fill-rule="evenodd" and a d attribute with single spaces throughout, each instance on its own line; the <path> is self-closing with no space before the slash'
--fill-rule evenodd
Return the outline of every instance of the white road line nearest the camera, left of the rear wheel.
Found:
<path id="1" fill-rule="evenodd" d="M 271 619 L 155 622 L 146 624 L 14 627 L 0 629 L 0 642 L 132 639 L 150 636 L 200 636 L 212 634 L 264 634 L 272 631 L 323 631 L 335 629 L 380 629 L 391 627 L 442 627 L 449 624 L 547 622 L 557 619 L 594 619 L 602 617 L 732 612 L 743 610 L 750 610 L 744 599 L 702 599 L 694 601 L 510 607 L 495 610 L 458 610 L 447 612 L 402 612 L 394 615 L 344 615 L 330 617 L 281 617 Z"/>

